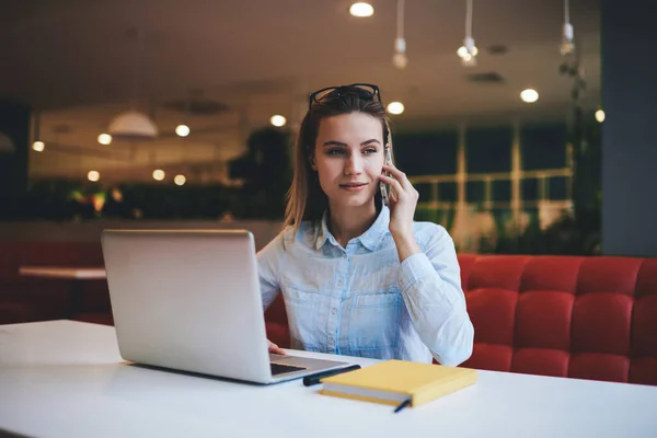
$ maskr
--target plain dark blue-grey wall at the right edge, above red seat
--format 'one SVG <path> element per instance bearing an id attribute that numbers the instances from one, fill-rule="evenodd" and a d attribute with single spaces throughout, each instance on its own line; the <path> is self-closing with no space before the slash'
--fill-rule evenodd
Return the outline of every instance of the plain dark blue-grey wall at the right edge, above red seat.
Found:
<path id="1" fill-rule="evenodd" d="M 602 252 L 657 256 L 654 2 L 602 4 Z"/>

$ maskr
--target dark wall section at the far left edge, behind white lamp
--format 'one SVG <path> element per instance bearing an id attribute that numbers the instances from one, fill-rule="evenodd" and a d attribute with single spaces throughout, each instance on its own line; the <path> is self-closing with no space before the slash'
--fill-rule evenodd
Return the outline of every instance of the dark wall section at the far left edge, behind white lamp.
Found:
<path id="1" fill-rule="evenodd" d="M 0 216 L 7 216 L 27 191 L 30 108 L 0 100 L 0 132 L 16 148 L 13 153 L 0 153 Z"/>

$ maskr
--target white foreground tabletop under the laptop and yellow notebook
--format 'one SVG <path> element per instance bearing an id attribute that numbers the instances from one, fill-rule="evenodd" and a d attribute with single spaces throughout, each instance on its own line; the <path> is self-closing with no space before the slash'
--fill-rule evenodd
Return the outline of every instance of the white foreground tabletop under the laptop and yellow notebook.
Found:
<path id="1" fill-rule="evenodd" d="M 111 326 L 0 326 L 0 429 L 27 436 L 657 436 L 654 387 L 480 371 L 475 385 L 399 414 L 316 390 L 122 364 Z"/>

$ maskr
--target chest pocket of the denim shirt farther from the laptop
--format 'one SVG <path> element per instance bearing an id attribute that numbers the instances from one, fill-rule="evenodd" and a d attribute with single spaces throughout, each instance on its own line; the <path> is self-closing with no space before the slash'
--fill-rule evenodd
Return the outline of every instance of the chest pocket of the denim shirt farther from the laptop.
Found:
<path id="1" fill-rule="evenodd" d="M 399 290 L 360 293 L 351 297 L 348 321 L 349 349 L 378 356 L 377 350 L 393 349 L 400 339 L 403 298 Z"/>

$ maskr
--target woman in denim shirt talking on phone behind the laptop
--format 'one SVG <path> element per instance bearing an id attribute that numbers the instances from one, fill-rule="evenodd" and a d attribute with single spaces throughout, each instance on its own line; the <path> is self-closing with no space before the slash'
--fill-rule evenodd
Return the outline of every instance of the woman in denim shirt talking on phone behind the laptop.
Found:
<path id="1" fill-rule="evenodd" d="M 310 95 L 286 227 L 258 253 L 263 302 L 283 292 L 295 349 L 457 366 L 474 330 L 454 245 L 413 221 L 418 195 L 384 163 L 390 138 L 376 85 Z"/>

